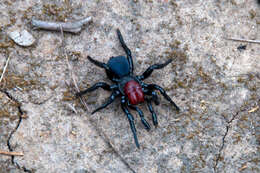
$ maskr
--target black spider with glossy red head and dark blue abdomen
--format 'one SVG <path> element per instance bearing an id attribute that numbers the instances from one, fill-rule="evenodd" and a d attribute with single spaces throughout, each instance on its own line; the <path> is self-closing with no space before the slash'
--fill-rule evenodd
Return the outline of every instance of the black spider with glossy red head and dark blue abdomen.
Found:
<path id="1" fill-rule="evenodd" d="M 136 128 L 134 124 L 134 117 L 130 113 L 129 109 L 132 109 L 136 111 L 141 121 L 146 128 L 146 130 L 150 130 L 149 123 L 145 120 L 144 114 L 136 105 L 139 103 L 143 103 L 144 101 L 147 102 L 147 106 L 149 111 L 152 114 L 152 120 L 155 127 L 158 125 L 157 121 L 157 115 L 153 110 L 152 102 L 154 102 L 156 105 L 159 105 L 159 100 L 157 93 L 155 92 L 158 90 L 163 97 L 169 101 L 177 111 L 180 110 L 180 108 L 171 100 L 171 98 L 166 94 L 165 90 L 156 84 L 146 84 L 143 82 L 144 79 L 148 78 L 153 70 L 155 69 L 162 69 L 165 66 L 167 66 L 169 63 L 172 62 L 172 60 L 168 60 L 163 64 L 154 64 L 151 65 L 142 75 L 136 76 L 133 74 L 134 71 L 134 65 L 133 65 L 133 59 L 131 55 L 130 49 L 126 46 L 123 36 L 119 29 L 116 30 L 118 39 L 120 41 L 120 44 L 122 45 L 125 53 L 125 56 L 116 56 L 111 57 L 107 64 L 103 62 L 99 62 L 95 59 L 92 59 L 90 56 L 88 56 L 88 60 L 95 64 L 98 67 L 101 67 L 105 69 L 107 77 L 114 83 L 113 85 L 109 85 L 104 82 L 98 82 L 95 83 L 90 88 L 80 91 L 76 93 L 76 96 L 82 96 L 88 92 L 92 92 L 98 88 L 102 88 L 107 91 L 112 91 L 112 94 L 108 98 L 108 100 L 102 104 L 100 107 L 95 109 L 92 114 L 96 113 L 97 111 L 104 109 L 108 105 L 110 105 L 117 97 L 121 97 L 121 108 L 126 114 L 131 130 L 133 132 L 134 141 L 137 148 L 140 148 L 138 138 L 136 135 Z"/>

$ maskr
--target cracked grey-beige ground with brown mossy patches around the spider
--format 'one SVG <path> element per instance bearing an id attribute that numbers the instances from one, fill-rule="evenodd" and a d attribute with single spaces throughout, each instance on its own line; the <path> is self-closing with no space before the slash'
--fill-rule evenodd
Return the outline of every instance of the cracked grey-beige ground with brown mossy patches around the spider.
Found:
<path id="1" fill-rule="evenodd" d="M 260 45 L 225 38 L 260 40 L 260 6 L 232 1 L 11 1 L 0 3 L 0 172 L 260 172 Z M 92 16 L 79 34 L 33 30 L 32 18 L 70 21 Z M 139 107 L 152 126 L 133 112 L 140 149 L 116 100 L 91 115 L 110 93 L 99 89 L 84 99 L 73 95 L 73 67 L 80 89 L 111 82 L 87 60 L 107 62 L 124 55 L 119 28 L 132 50 L 135 74 L 155 70 L 156 83 L 181 108 L 160 96 Z M 7 34 L 26 29 L 28 48 Z M 242 47 L 242 48 L 241 48 Z"/>

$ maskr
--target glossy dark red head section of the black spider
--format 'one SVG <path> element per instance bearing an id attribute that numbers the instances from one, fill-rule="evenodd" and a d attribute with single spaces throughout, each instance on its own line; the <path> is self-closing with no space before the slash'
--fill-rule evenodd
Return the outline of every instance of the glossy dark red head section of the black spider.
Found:
<path id="1" fill-rule="evenodd" d="M 132 105 L 144 102 L 144 93 L 139 83 L 130 80 L 125 84 L 124 92 Z"/>

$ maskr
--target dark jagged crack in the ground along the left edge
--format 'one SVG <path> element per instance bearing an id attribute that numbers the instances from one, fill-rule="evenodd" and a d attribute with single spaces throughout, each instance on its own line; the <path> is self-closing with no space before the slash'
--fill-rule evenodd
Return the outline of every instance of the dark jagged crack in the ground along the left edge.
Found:
<path id="1" fill-rule="evenodd" d="M 23 117 L 23 115 L 24 115 L 24 112 L 23 112 L 22 109 L 21 109 L 21 103 L 20 103 L 18 100 L 16 100 L 13 96 L 11 96 L 10 93 L 8 93 L 7 91 L 2 90 L 2 89 L 0 89 L 0 92 L 2 92 L 3 94 L 5 94 L 5 95 L 6 95 L 10 100 L 12 100 L 13 102 L 17 103 L 17 109 L 18 109 L 18 112 L 19 112 L 19 114 L 18 114 L 19 120 L 18 120 L 18 122 L 17 122 L 17 124 L 16 124 L 16 127 L 15 127 L 15 128 L 11 131 L 11 133 L 9 134 L 8 139 L 7 139 L 7 142 L 6 142 L 9 151 L 12 152 L 12 151 L 14 151 L 14 149 L 13 149 L 12 146 L 11 146 L 10 140 L 11 140 L 13 134 L 14 134 L 14 133 L 17 131 L 17 129 L 19 128 L 20 124 L 22 123 L 22 117 Z M 18 169 L 23 170 L 24 172 L 29 172 L 29 173 L 32 172 L 31 170 L 25 168 L 24 166 L 20 166 L 17 162 L 15 162 L 15 161 L 14 161 L 14 156 L 11 156 L 11 162 L 12 162 L 12 164 L 15 165 Z"/>

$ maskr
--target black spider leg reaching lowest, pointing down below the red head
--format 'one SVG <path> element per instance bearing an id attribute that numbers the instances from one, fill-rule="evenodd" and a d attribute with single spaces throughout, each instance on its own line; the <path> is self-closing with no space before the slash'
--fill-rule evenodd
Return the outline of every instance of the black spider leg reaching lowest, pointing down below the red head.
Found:
<path id="1" fill-rule="evenodd" d="M 133 117 L 133 115 L 131 115 L 131 113 L 127 109 L 125 96 L 122 96 L 122 98 L 121 98 L 121 107 L 122 107 L 124 113 L 126 114 L 126 116 L 128 118 L 131 130 L 133 132 L 135 145 L 136 145 L 137 148 L 140 148 L 140 145 L 139 145 L 139 142 L 138 142 L 138 138 L 137 138 L 137 135 L 136 135 L 136 128 L 135 128 L 135 124 L 134 124 L 134 117 Z"/>

